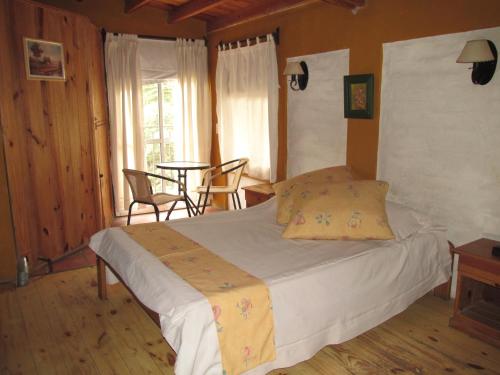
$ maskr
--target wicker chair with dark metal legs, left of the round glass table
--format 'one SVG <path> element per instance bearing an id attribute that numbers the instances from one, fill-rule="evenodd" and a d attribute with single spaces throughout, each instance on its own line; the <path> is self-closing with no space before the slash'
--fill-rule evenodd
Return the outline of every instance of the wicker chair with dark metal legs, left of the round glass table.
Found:
<path id="1" fill-rule="evenodd" d="M 123 169 L 123 174 L 125 175 L 125 178 L 130 184 L 130 189 L 132 190 L 132 196 L 134 197 L 134 200 L 132 201 L 132 203 L 130 203 L 130 206 L 128 207 L 127 225 L 130 225 L 132 206 L 135 203 L 149 204 L 153 206 L 155 209 L 156 221 L 160 221 L 160 210 L 158 209 L 158 206 L 169 202 L 174 202 L 170 207 L 170 209 L 168 210 L 167 217 L 165 219 L 168 220 L 177 202 L 180 200 L 184 200 L 184 196 L 182 195 L 174 195 L 168 193 L 154 194 L 153 187 L 151 186 L 151 181 L 149 180 L 149 177 L 156 177 L 162 180 L 174 182 L 181 187 L 180 191 L 184 191 L 184 186 L 179 181 L 149 172 L 138 171 L 135 169 Z"/>

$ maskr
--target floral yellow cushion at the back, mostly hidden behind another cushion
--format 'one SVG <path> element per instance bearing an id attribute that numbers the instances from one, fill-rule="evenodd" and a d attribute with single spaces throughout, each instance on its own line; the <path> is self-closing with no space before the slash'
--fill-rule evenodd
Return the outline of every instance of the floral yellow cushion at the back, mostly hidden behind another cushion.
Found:
<path id="1" fill-rule="evenodd" d="M 278 182 L 273 185 L 278 204 L 276 221 L 287 224 L 290 221 L 294 199 L 302 192 L 302 187 L 325 182 L 343 182 L 360 180 L 349 167 L 345 165 L 318 169 L 299 176 Z"/>

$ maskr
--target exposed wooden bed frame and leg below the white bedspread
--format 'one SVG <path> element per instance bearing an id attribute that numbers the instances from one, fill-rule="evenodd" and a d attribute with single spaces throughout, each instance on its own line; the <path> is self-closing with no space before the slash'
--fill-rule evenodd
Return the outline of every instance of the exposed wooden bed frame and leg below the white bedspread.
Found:
<path id="1" fill-rule="evenodd" d="M 449 248 L 450 248 L 450 254 L 451 254 L 452 260 L 453 260 L 453 249 L 455 248 L 455 246 L 449 241 L 448 241 L 448 244 L 449 244 Z M 150 308 L 148 308 L 147 306 L 145 306 L 139 300 L 139 298 L 136 297 L 134 292 L 132 292 L 132 290 L 130 290 L 128 285 L 123 282 L 122 278 L 113 269 L 113 267 L 111 267 L 99 255 L 96 255 L 96 257 L 97 257 L 97 294 L 98 294 L 99 298 L 101 300 L 105 300 L 108 298 L 107 285 L 106 285 L 106 267 L 108 267 L 113 272 L 113 274 L 117 277 L 117 279 L 120 280 L 120 282 L 123 285 L 125 285 L 125 288 L 127 288 L 127 290 L 135 298 L 135 300 L 139 303 L 139 305 L 142 307 L 142 309 L 149 315 L 149 317 L 159 327 L 160 326 L 160 315 L 158 313 L 154 312 L 153 310 L 151 310 Z M 451 262 L 451 269 L 453 272 L 453 261 Z M 450 299 L 450 290 L 451 290 L 451 276 L 448 279 L 448 281 L 435 287 L 432 291 L 432 294 L 436 297 L 448 300 L 448 299 Z"/>

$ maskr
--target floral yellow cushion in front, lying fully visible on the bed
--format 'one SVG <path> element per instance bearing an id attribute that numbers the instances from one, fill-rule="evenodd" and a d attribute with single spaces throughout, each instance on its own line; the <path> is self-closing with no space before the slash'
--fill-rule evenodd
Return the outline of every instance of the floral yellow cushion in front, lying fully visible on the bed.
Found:
<path id="1" fill-rule="evenodd" d="M 385 181 L 302 185 L 283 238 L 390 240 Z"/>

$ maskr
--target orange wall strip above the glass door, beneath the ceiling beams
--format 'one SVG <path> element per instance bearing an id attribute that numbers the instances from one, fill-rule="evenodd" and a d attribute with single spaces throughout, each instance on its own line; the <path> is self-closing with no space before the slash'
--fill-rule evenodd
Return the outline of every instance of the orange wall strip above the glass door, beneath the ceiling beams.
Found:
<path id="1" fill-rule="evenodd" d="M 205 22 L 195 19 L 167 23 L 164 10 L 142 7 L 131 14 L 124 12 L 124 0 L 38 0 L 41 3 L 86 15 L 96 26 L 115 33 L 130 33 L 182 38 L 205 36 Z"/>

